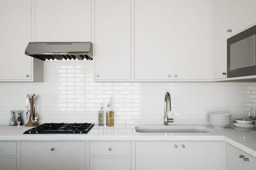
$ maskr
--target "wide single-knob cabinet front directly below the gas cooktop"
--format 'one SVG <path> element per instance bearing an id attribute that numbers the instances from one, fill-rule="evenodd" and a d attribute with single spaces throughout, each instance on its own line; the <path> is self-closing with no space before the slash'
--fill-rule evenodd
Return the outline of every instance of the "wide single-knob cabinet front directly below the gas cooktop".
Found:
<path id="1" fill-rule="evenodd" d="M 21 142 L 21 170 L 84 170 L 84 142 Z"/>

